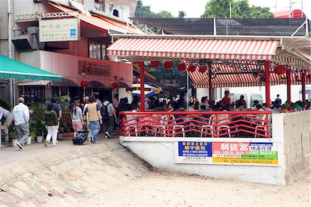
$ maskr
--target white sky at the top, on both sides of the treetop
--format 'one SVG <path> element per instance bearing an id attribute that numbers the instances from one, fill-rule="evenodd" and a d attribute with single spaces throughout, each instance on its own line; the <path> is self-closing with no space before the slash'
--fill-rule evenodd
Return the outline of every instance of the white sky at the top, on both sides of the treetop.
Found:
<path id="1" fill-rule="evenodd" d="M 311 18 L 311 0 L 249 0 L 249 5 L 269 7 L 270 11 L 290 10 L 290 1 L 292 1 L 292 10 L 301 9 L 303 2 L 303 12 Z M 167 10 L 174 17 L 178 16 L 178 11 L 186 12 L 186 17 L 200 17 L 205 10 L 207 0 L 142 0 L 144 6 L 150 6 L 151 11 L 160 12 Z M 276 6 L 276 8 L 275 8 Z"/>

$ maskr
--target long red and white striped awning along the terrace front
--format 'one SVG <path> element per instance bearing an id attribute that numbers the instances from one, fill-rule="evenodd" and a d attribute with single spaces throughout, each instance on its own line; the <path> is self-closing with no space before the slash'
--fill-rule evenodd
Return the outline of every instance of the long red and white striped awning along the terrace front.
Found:
<path id="1" fill-rule="evenodd" d="M 108 55 L 174 59 L 273 60 L 279 41 L 258 39 L 117 39 Z"/>

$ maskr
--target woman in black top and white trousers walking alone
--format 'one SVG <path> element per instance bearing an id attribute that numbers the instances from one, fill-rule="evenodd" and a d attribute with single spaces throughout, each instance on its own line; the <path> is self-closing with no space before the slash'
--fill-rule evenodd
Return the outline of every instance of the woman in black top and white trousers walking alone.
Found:
<path id="1" fill-rule="evenodd" d="M 48 109 L 46 111 L 46 126 L 48 128 L 48 135 L 46 135 L 46 140 L 44 141 L 44 147 L 48 147 L 48 143 L 50 142 L 50 138 L 52 137 L 53 147 L 56 145 L 57 138 L 57 114 L 56 111 L 53 110 L 53 104 L 50 103 L 48 105 Z"/>

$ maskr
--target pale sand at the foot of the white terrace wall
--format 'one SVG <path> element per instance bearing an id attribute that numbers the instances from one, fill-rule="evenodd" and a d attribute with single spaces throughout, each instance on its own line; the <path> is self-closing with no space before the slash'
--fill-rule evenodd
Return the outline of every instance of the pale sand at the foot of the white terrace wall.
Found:
<path id="1" fill-rule="evenodd" d="M 272 186 L 156 171 L 106 186 L 78 206 L 311 206 L 310 197 L 310 172 Z"/>

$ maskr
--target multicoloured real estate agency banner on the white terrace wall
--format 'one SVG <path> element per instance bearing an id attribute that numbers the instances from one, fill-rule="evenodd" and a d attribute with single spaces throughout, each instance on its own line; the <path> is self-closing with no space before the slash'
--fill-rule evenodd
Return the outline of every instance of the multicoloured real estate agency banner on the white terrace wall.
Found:
<path id="1" fill-rule="evenodd" d="M 205 144 L 206 142 L 176 142 L 176 146 L 178 146 L 176 163 L 278 165 L 277 143 L 207 142 L 206 145 L 203 145 L 206 146 L 206 155 L 200 155 L 204 153 L 202 150 L 198 150 L 198 147 L 196 148 L 196 143 L 200 145 L 200 143 Z M 194 146 L 194 150 L 191 150 L 192 146 Z M 206 156 L 206 158 L 194 159 L 193 157 L 196 156 Z"/>

